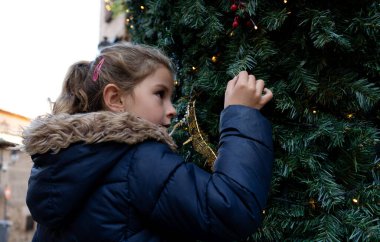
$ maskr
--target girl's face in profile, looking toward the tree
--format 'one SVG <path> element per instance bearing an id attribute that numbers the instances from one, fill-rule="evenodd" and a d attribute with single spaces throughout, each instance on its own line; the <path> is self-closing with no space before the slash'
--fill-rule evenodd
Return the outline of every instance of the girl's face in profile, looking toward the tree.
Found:
<path id="1" fill-rule="evenodd" d="M 172 74 L 166 67 L 160 67 L 142 80 L 133 94 L 126 94 L 124 110 L 152 123 L 169 127 L 176 115 L 171 97 L 174 89 Z"/>

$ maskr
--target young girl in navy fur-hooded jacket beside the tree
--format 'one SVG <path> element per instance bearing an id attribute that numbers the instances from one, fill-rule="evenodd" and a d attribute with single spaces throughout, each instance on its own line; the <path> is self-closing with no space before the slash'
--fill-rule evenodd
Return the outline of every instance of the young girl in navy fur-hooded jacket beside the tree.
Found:
<path id="1" fill-rule="evenodd" d="M 174 71 L 148 46 L 117 44 L 69 69 L 52 115 L 23 134 L 34 166 L 33 241 L 232 241 L 259 227 L 273 162 L 271 98 L 228 82 L 214 172 L 185 163 L 167 127 Z"/>

